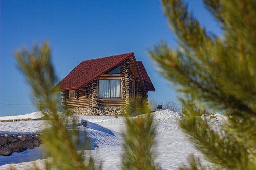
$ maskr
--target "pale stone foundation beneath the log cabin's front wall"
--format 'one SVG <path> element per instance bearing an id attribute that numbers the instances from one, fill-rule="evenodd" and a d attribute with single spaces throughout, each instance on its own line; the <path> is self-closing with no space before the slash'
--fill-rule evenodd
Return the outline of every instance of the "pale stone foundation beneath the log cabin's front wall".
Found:
<path id="1" fill-rule="evenodd" d="M 97 107 L 69 109 L 73 114 L 94 116 L 122 116 L 125 112 L 123 107 Z"/>

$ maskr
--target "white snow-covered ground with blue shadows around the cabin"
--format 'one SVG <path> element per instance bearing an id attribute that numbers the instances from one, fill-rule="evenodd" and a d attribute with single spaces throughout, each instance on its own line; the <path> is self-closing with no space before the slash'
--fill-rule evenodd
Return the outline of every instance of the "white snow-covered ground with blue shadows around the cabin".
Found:
<path id="1" fill-rule="evenodd" d="M 170 110 L 162 110 L 152 113 L 154 120 L 158 124 L 156 137 L 157 162 L 163 169 L 178 169 L 186 162 L 190 153 L 201 156 L 188 140 L 188 137 L 179 128 L 177 120 L 182 117 L 181 113 Z M 31 116 L 39 117 L 40 112 L 31 113 Z M 24 115 L 31 118 L 29 114 Z M 11 116 L 15 119 L 15 116 Z M 104 117 L 104 116 L 82 116 L 73 115 L 77 119 L 89 121 L 88 128 L 78 126 L 81 132 L 87 132 L 92 139 L 94 149 L 87 153 L 97 156 L 103 161 L 103 169 L 120 169 L 122 155 L 121 133 L 125 129 L 124 117 Z M 219 115 L 221 118 L 221 115 Z M 24 118 L 20 116 L 19 118 Z M 3 117 L 0 117 L 3 119 Z M 10 118 L 8 118 L 10 119 Z M 216 121 L 221 123 L 223 118 Z M 0 134 L 36 134 L 47 125 L 46 121 L 25 121 L 25 122 L 0 122 Z M 42 145 L 41 145 L 42 146 Z M 17 169 L 29 169 L 36 163 L 44 169 L 44 159 L 42 147 L 28 149 L 20 153 L 13 153 L 11 156 L 0 156 L 0 169 L 7 169 L 15 166 Z"/>

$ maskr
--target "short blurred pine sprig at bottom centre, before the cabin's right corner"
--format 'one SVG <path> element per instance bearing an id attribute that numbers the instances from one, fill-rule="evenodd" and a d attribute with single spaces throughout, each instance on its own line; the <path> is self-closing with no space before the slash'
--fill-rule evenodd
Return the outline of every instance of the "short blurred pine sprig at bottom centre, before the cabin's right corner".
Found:
<path id="1" fill-rule="evenodd" d="M 154 150 L 156 125 L 151 114 L 126 117 L 126 129 L 123 132 L 122 169 L 159 169 L 155 163 Z"/>

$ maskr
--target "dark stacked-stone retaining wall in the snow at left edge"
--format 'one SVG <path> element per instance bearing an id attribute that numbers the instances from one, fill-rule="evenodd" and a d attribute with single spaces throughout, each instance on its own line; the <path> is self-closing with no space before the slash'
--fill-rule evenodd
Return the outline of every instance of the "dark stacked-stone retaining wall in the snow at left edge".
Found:
<path id="1" fill-rule="evenodd" d="M 40 144 L 39 135 L 0 135 L 0 155 L 11 155 L 13 152 L 39 147 Z"/>

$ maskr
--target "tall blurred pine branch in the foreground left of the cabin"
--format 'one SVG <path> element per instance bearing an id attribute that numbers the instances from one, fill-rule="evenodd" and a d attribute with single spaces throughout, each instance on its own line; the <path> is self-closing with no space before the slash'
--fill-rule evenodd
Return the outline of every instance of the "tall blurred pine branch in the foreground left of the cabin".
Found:
<path id="1" fill-rule="evenodd" d="M 84 150 L 78 151 L 79 131 L 76 122 L 68 128 L 69 114 L 64 119 L 59 118 L 58 109 L 61 107 L 59 93 L 54 92 L 57 78 L 51 62 L 51 51 L 47 42 L 41 47 L 34 45 L 33 49 L 23 48 L 15 53 L 18 67 L 30 85 L 34 101 L 40 101 L 42 113 L 49 122 L 49 127 L 41 134 L 46 157 L 46 169 L 96 169 L 94 159 L 86 159 Z M 35 102 L 35 106 L 37 106 Z M 46 113 L 45 111 L 48 111 Z M 62 117 L 63 118 L 63 117 Z M 81 144 L 81 143 L 80 143 Z M 82 143 L 84 148 L 88 141 Z M 37 169 L 35 167 L 35 169 Z"/>

